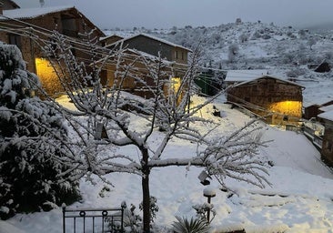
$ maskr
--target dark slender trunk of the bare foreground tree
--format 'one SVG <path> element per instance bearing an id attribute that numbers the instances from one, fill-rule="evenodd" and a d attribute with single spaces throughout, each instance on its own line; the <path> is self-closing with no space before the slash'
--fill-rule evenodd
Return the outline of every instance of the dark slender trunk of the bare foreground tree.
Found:
<path id="1" fill-rule="evenodd" d="M 150 168 L 148 164 L 148 150 L 142 150 L 142 206 L 143 206 L 143 223 L 144 233 L 150 233 L 150 191 L 149 191 L 149 174 Z"/>

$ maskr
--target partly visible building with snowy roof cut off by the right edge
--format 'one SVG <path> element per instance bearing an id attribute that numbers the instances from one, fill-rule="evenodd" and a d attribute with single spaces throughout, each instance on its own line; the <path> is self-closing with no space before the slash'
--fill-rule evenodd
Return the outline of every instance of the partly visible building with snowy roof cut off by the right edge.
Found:
<path id="1" fill-rule="evenodd" d="M 318 115 L 325 130 L 321 147 L 321 158 L 333 166 L 333 110 Z"/>

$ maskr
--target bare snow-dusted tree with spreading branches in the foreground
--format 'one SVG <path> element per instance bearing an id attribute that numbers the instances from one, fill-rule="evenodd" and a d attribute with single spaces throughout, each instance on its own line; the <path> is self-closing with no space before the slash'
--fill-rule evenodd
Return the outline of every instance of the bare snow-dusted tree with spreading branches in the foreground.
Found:
<path id="1" fill-rule="evenodd" d="M 222 186 L 226 186 L 226 177 L 257 187 L 268 183 L 266 168 L 255 158 L 258 147 L 266 145 L 255 122 L 248 123 L 228 137 L 215 140 L 208 139 L 208 134 L 195 127 L 194 123 L 198 122 L 212 123 L 197 117 L 197 113 L 214 99 L 209 98 L 200 105 L 189 105 L 193 94 L 191 86 L 197 75 L 198 51 L 194 52 L 187 67 L 180 68 L 161 57 L 145 56 L 122 46 L 106 50 L 88 43 L 84 46 L 85 51 L 95 55 L 89 64 L 92 72 L 88 73 L 87 67 L 72 54 L 73 42 L 56 32 L 52 35 L 52 42 L 52 45 L 47 42 L 39 44 L 45 48 L 66 95 L 77 109 L 69 110 L 54 102 L 54 107 L 66 117 L 68 127 L 76 135 L 68 156 L 59 159 L 80 171 L 78 178 L 96 174 L 108 182 L 104 177 L 108 173 L 125 172 L 141 176 L 144 232 L 150 232 L 149 176 L 154 167 L 204 167 Z M 102 69 L 114 71 L 114 82 L 101 85 Z M 183 73 L 182 78 L 176 81 L 170 78 L 175 69 Z M 123 90 L 128 82 L 135 82 L 151 97 L 145 100 L 127 97 Z M 145 121 L 144 129 L 135 126 L 134 116 Z M 149 138 L 158 129 L 163 129 L 163 138 L 157 147 L 151 147 Z M 106 137 L 100 137 L 101 131 L 106 133 Z M 197 154 L 164 158 L 172 137 L 196 142 L 200 146 Z M 118 154 L 114 150 L 128 145 L 136 147 L 140 157 Z"/>

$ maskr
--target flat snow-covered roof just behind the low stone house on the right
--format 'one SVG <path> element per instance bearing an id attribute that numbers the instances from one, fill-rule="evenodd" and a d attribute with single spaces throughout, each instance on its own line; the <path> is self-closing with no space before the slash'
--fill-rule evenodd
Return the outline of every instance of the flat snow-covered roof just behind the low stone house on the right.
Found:
<path id="1" fill-rule="evenodd" d="M 228 70 L 226 82 L 245 82 L 269 74 L 267 69 Z"/>

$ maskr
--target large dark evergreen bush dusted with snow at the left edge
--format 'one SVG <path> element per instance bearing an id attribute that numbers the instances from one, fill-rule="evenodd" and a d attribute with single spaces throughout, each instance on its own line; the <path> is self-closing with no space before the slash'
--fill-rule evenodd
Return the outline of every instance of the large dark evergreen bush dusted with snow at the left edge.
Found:
<path id="1" fill-rule="evenodd" d="M 37 77 L 25 70 L 16 46 L 0 46 L 0 218 L 50 209 L 77 198 L 65 157 L 63 118 L 48 102 L 31 96 Z M 40 124 L 43 123 L 43 124 Z M 42 127 L 43 125 L 43 127 Z M 66 175 L 61 175 L 66 174 Z"/>

